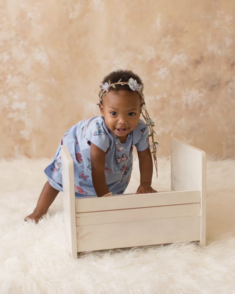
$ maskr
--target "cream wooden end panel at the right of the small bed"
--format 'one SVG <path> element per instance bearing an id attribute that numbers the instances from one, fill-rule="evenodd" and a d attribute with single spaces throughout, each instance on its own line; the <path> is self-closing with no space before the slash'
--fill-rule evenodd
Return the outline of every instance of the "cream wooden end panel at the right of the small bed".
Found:
<path id="1" fill-rule="evenodd" d="M 200 245 L 206 245 L 206 153 L 177 139 L 171 141 L 171 190 L 200 190 Z"/>

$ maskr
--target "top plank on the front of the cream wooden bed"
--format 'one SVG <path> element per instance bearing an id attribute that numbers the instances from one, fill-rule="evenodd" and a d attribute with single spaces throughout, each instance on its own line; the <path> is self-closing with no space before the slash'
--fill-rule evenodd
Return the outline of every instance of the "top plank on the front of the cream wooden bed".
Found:
<path id="1" fill-rule="evenodd" d="M 148 194 L 124 194 L 112 197 L 75 199 L 77 213 L 199 202 L 200 191 L 198 190 L 166 191 Z"/>

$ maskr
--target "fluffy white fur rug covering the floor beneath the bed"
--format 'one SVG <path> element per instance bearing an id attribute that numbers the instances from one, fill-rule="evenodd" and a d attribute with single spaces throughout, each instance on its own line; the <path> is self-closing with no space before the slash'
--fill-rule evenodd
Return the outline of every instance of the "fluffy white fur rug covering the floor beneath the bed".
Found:
<path id="1" fill-rule="evenodd" d="M 207 246 L 195 243 L 69 256 L 62 194 L 38 224 L 24 222 L 48 159 L 1 160 L 0 293 L 235 293 L 235 160 L 207 162 Z M 138 163 L 126 193 L 138 186 Z M 170 190 L 169 158 L 158 191 Z"/>

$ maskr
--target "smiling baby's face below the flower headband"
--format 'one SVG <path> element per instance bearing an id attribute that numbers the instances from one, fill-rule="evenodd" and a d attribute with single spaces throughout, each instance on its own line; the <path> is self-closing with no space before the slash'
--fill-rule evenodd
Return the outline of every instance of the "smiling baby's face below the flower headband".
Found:
<path id="1" fill-rule="evenodd" d="M 141 101 L 138 92 L 110 91 L 106 92 L 99 103 L 101 115 L 105 118 L 106 126 L 121 143 L 127 139 L 127 134 L 134 130 L 139 123 Z"/>

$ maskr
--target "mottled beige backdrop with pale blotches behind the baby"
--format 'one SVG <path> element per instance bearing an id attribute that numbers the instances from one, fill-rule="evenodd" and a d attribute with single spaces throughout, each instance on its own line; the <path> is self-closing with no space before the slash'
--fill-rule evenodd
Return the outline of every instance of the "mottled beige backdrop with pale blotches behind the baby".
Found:
<path id="1" fill-rule="evenodd" d="M 234 0 L 1 0 L 1 157 L 51 157 L 99 114 L 99 83 L 145 84 L 159 155 L 179 138 L 234 156 Z"/>

